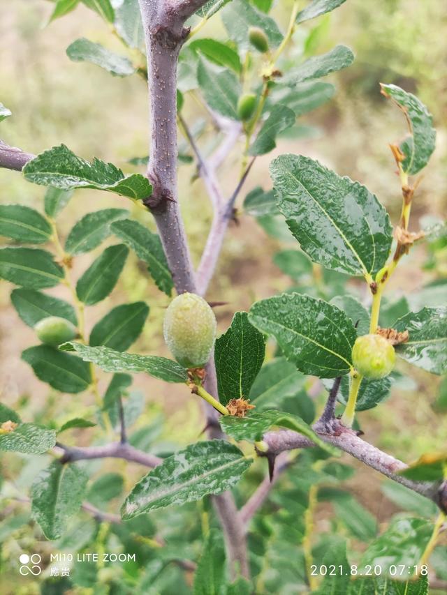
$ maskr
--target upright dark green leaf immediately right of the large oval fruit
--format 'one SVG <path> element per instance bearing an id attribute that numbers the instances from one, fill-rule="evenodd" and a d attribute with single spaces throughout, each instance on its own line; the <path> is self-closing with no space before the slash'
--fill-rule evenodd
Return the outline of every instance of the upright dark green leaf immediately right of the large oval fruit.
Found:
<path id="1" fill-rule="evenodd" d="M 247 312 L 236 312 L 229 329 L 214 347 L 219 400 L 247 399 L 263 365 L 265 339 L 248 320 Z"/>

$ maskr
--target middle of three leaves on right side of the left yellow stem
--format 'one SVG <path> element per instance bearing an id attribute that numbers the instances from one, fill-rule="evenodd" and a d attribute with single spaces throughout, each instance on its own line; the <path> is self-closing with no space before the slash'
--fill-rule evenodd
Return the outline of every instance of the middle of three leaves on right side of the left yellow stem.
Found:
<path id="1" fill-rule="evenodd" d="M 124 244 L 105 248 L 76 284 L 80 301 L 91 306 L 107 297 L 117 284 L 128 254 Z"/>

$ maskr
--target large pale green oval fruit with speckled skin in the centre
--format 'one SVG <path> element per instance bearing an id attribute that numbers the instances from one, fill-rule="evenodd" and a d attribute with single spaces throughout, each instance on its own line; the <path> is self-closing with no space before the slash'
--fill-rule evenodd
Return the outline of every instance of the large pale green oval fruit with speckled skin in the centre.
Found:
<path id="1" fill-rule="evenodd" d="M 186 368 L 205 366 L 216 339 L 216 317 L 196 294 L 180 294 L 168 306 L 163 335 L 170 352 Z"/>

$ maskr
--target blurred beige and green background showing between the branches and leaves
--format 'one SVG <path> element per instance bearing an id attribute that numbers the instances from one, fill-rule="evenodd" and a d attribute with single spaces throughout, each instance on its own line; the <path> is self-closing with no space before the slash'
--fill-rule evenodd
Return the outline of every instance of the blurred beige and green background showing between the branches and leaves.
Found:
<path id="1" fill-rule="evenodd" d="M 1 137 L 9 144 L 34 153 L 63 142 L 87 159 L 97 156 L 112 161 L 125 172 L 141 171 L 141 168 L 129 165 L 128 161 L 135 156 L 147 154 L 148 110 L 144 80 L 136 75 L 124 79 L 110 77 L 96 66 L 71 62 L 66 56 L 66 47 L 75 38 L 82 36 L 103 43 L 117 52 L 122 52 L 123 48 L 111 34 L 107 24 L 84 6 L 79 6 L 63 19 L 47 24 L 51 9 L 50 3 L 43 0 L 1 1 L 0 100 L 13 112 L 13 116 L 1 124 Z M 283 28 L 286 26 L 289 10 L 288 1 L 277 1 L 272 8 L 272 14 Z M 300 25 L 288 60 L 321 54 L 337 43 L 349 45 L 356 54 L 356 60 L 350 68 L 329 77 L 328 80 L 337 87 L 334 98 L 314 112 L 302 116 L 300 133 L 293 138 L 283 137 L 274 154 L 288 151 L 304 153 L 322 160 L 339 174 L 361 181 L 386 204 L 395 223 L 400 213 L 400 184 L 388 143 L 402 137 L 404 119 L 379 92 L 379 82 L 393 82 L 406 91 L 416 93 L 423 100 L 434 115 L 434 126 L 437 128 L 437 149 L 425 170 L 423 183 L 418 188 L 411 227 L 413 230 L 418 229 L 420 220 L 427 216 L 445 216 L 446 27 L 447 6 L 438 0 L 376 0 L 374 5 L 364 0 L 347 0 L 334 13 Z M 199 36 L 224 39 L 226 34 L 219 17 L 210 20 Z M 200 105 L 193 100 L 186 101 L 186 121 L 192 122 L 203 115 Z M 213 130 L 206 130 L 206 134 L 211 138 Z M 219 172 L 228 195 L 233 190 L 236 178 L 233 168 L 237 168 L 239 172 L 240 151 L 241 146 L 235 147 Z M 270 188 L 268 163 L 271 159 L 272 155 L 258 158 L 245 193 L 258 185 Z M 41 209 L 44 188 L 27 183 L 16 172 L 0 170 L 0 189 L 0 202 L 3 204 L 20 203 Z M 197 263 L 212 212 L 203 183 L 197 179 L 193 165 L 180 167 L 179 189 L 193 259 Z M 61 235 L 65 237 L 74 221 L 91 211 L 94 206 L 98 209 L 123 206 L 123 199 L 94 190 L 78 191 L 60 217 Z M 130 202 L 124 206 L 131 211 L 134 209 Z M 230 227 L 218 271 L 208 293 L 210 301 L 227 303 L 216 309 L 219 331 L 227 328 L 236 310 L 247 310 L 255 299 L 284 291 L 292 285 L 291 278 L 274 264 L 273 257 L 279 250 L 294 247 L 293 244 L 265 234 L 255 220 L 242 213 L 242 197 L 239 206 L 241 214 L 238 224 Z M 135 218 L 154 229 L 149 213 L 142 213 L 137 209 L 134 211 Z M 75 276 L 85 270 L 89 260 L 87 255 L 75 259 Z M 393 289 L 390 295 L 397 299 L 405 294 L 410 302 L 413 300 L 420 308 L 424 305 L 446 303 L 446 277 L 445 242 L 434 242 L 428 246 L 425 244 L 414 248 L 411 257 L 403 260 L 402 266 L 390 282 L 390 289 Z M 423 289 L 435 280 L 436 286 Z M 47 423 L 48 419 L 63 423 L 73 416 L 94 414 L 95 405 L 89 397 L 61 398 L 59 393 L 51 390 L 49 392 L 47 385 L 39 382 L 20 360 L 22 349 L 31 345 L 35 339 L 33 331 L 20 322 L 10 306 L 10 289 L 8 283 L 0 282 L 1 400 L 10 407 L 20 409 L 25 420 L 35 419 L 37 423 Z M 356 282 L 353 282 L 353 289 L 356 291 Z M 57 288 L 54 293 L 67 297 L 63 288 Z M 166 354 L 161 337 L 161 320 L 168 298 L 156 290 L 133 257 L 127 262 L 119 287 L 112 296 L 89 308 L 87 330 L 112 306 L 137 300 L 147 301 L 151 311 L 142 336 L 133 350 Z M 270 349 L 270 356 L 272 355 Z M 359 419 L 369 442 L 403 460 L 411 461 L 422 452 L 445 448 L 447 385 L 445 379 L 442 382 L 442 379 L 439 380 L 423 370 L 411 368 L 410 371 L 409 366 L 402 361 L 398 371 L 402 376 L 395 382 L 391 398 L 381 407 L 360 414 Z M 108 377 L 103 376 L 101 387 L 105 388 Z M 184 389 L 173 389 L 142 375 L 135 378 L 135 387 L 142 391 L 139 409 L 137 407 L 134 413 L 135 445 L 163 453 L 198 439 L 203 430 L 200 408 Z M 323 400 L 323 395 L 318 397 L 317 409 L 321 407 Z M 162 424 L 162 420 L 165 423 Z M 73 442 L 92 444 L 94 432 L 95 430 L 75 430 L 72 433 Z M 303 458 L 307 456 L 302 455 Z M 344 510 L 342 504 L 337 509 L 337 498 L 333 494 L 330 498 L 327 494 L 326 498 L 321 497 L 321 502 L 316 504 L 315 530 L 325 532 L 331 528 L 349 534 L 359 539 L 361 550 L 360 541 L 367 541 L 375 534 L 376 522 L 379 525 L 388 522 L 391 515 L 400 510 L 397 503 L 402 503 L 403 496 L 396 495 L 393 488 L 384 487 L 381 478 L 369 469 L 357 465 L 346 456 L 342 460 L 357 469 L 353 477 L 346 477 L 346 488 L 356 495 L 362 506 L 372 515 L 371 519 L 367 517 L 370 520 L 369 525 L 367 522 L 366 525 L 363 523 L 361 529 L 350 528 L 349 518 L 343 519 L 343 514 L 340 513 L 340 510 Z M 0 459 L 3 478 L 18 478 L 17 483 L 22 489 L 31 483 L 36 470 L 45 465 L 47 460 L 44 457 L 27 456 L 25 459 L 2 455 Z M 95 465 L 96 462 L 91 463 L 92 472 Z M 240 494 L 249 493 L 256 485 L 255 480 L 262 478 L 263 462 L 258 462 L 257 465 L 258 475 L 252 474 L 250 479 L 242 481 L 238 488 Z M 307 461 L 306 465 L 312 466 L 312 461 Z M 140 474 L 140 469 L 134 467 L 129 471 L 129 463 L 114 461 L 105 462 L 103 470 L 121 472 L 124 476 L 123 492 L 126 492 Z M 283 483 L 285 491 L 278 491 L 270 505 L 270 511 L 274 509 L 275 498 L 286 499 L 287 490 L 291 490 L 291 497 L 295 499 L 298 496 L 293 490 L 305 490 L 302 485 L 295 485 L 293 478 L 284 479 Z M 332 504 L 328 503 L 329 499 Z M 412 503 L 413 508 L 417 508 L 418 504 L 423 506 L 418 500 Z M 196 505 L 188 505 L 185 508 L 195 510 L 194 506 Z M 197 506 L 201 509 L 202 522 L 206 525 L 209 522 L 207 502 Z M 183 531 L 184 535 L 191 537 L 191 543 L 194 543 L 194 535 L 200 532 L 200 527 L 196 526 L 194 515 L 184 515 L 183 511 L 184 509 L 164 511 L 157 515 L 157 522 L 163 522 L 163 517 L 168 515 L 167 526 L 175 526 L 175 533 Z M 367 515 L 367 512 L 360 513 L 360 516 L 362 514 Z M 282 521 L 285 530 L 289 522 L 285 513 L 282 513 Z M 149 526 L 151 520 L 145 522 L 148 524 L 146 528 L 139 525 L 139 520 L 136 525 L 138 531 L 142 532 L 140 547 L 147 548 L 149 554 L 145 552 L 145 555 L 150 558 L 153 555 L 153 544 L 150 545 L 153 528 Z M 258 520 L 261 524 L 268 522 L 268 518 Z M 276 534 L 281 532 L 281 527 L 282 525 L 274 529 Z M 85 522 L 81 529 L 78 529 L 79 543 L 73 537 L 76 547 L 83 540 L 87 543 L 96 530 L 92 528 L 91 535 L 87 535 L 86 540 L 85 535 L 80 534 L 88 534 L 88 523 Z M 29 532 L 29 529 L 23 531 L 22 546 L 28 543 L 31 547 L 39 538 L 38 530 L 36 529 L 35 534 Z M 146 544 L 145 535 L 149 540 Z M 169 534 L 165 534 L 165 538 L 168 537 Z M 94 540 L 96 544 L 101 543 L 101 535 L 95 534 Z M 256 536 L 252 541 L 256 542 Z M 74 547 L 73 543 L 71 547 Z M 256 553 L 256 543 L 252 546 Z M 197 551 L 194 553 L 197 554 Z M 261 550 L 257 553 L 259 564 L 262 564 L 267 556 Z M 8 554 L 13 558 L 14 552 Z M 187 554 L 188 552 L 183 553 L 186 557 Z M 156 557 L 153 564 L 155 571 Z M 5 594 L 12 592 L 8 581 L 12 580 L 11 577 L 17 581 L 18 576 L 15 568 L 13 573 L 8 568 L 10 569 L 9 566 L 6 567 L 3 578 L 0 578 L 0 589 Z M 124 568 L 124 572 L 131 575 L 132 568 Z M 178 568 L 173 570 L 173 574 L 175 573 L 182 576 Z M 262 580 L 263 588 L 269 589 L 268 581 L 272 581 L 271 584 L 274 585 L 274 574 L 265 571 Z M 78 586 L 89 589 L 88 578 L 80 578 Z M 16 593 L 39 592 L 33 590 L 34 587 L 29 587 L 27 581 L 15 587 Z M 161 592 L 163 588 L 159 587 Z M 170 587 L 166 588 L 168 591 L 164 592 L 169 592 Z M 79 592 L 91 592 L 82 589 Z"/>

